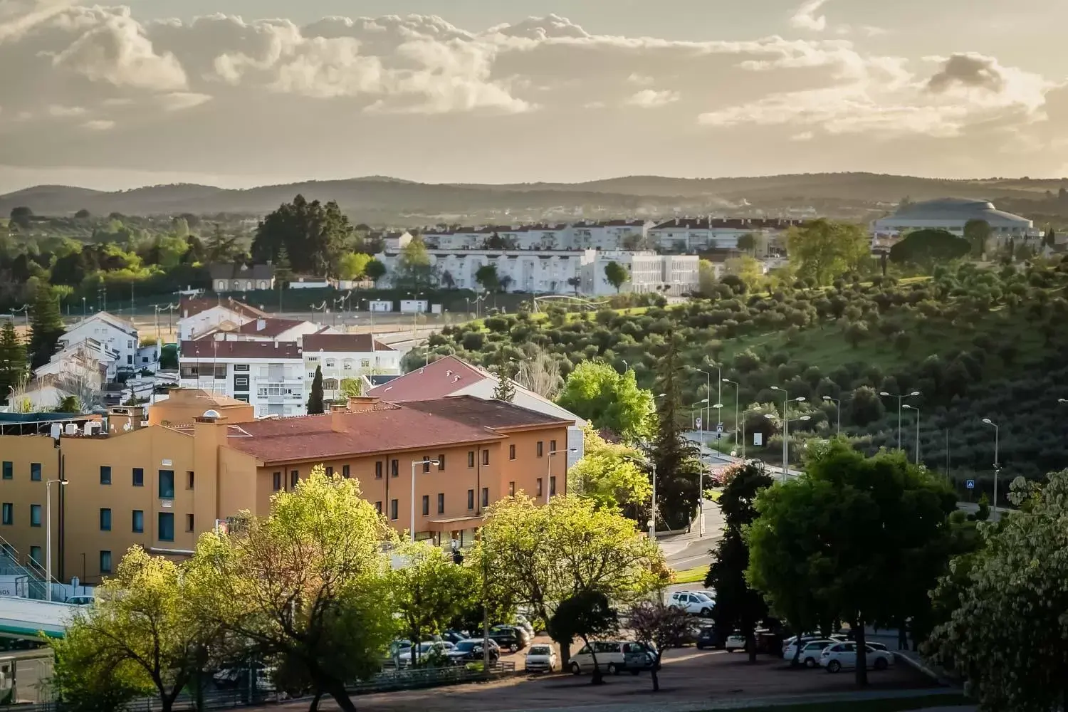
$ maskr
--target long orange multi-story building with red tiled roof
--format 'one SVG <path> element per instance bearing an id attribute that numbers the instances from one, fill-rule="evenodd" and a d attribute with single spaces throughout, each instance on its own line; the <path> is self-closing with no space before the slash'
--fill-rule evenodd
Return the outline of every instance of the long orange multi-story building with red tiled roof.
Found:
<path id="1" fill-rule="evenodd" d="M 91 434 L 72 424 L 76 434 L 58 441 L 47 423 L 31 424 L 33 434 L 5 424 L 4 542 L 20 560 L 43 564 L 50 496 L 53 575 L 94 584 L 134 544 L 187 556 L 219 522 L 242 510 L 268 513 L 271 495 L 317 464 L 356 479 L 398 531 L 439 543 L 472 541 L 486 507 L 508 494 L 546 502 L 566 490 L 565 459 L 553 454 L 566 449 L 574 423 L 511 404 L 359 398 L 324 415 L 250 422 L 251 409 L 225 399 L 225 408 L 185 421 L 190 401 L 210 399 L 176 393 L 152 407 L 158 412 L 147 426 L 137 409 L 116 410 Z M 61 478 L 65 487 L 48 485 Z"/>

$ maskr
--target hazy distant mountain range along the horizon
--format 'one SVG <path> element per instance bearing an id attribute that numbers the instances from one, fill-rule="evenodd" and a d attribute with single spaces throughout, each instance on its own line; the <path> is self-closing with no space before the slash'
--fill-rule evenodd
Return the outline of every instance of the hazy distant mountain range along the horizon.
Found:
<path id="1" fill-rule="evenodd" d="M 70 186 L 34 186 L 0 195 L 0 216 L 27 206 L 40 216 L 236 213 L 261 216 L 297 193 L 337 201 L 356 221 L 422 224 L 437 221 L 575 219 L 674 215 L 787 216 L 814 211 L 862 218 L 908 196 L 985 197 L 1012 205 L 1051 201 L 1068 180 L 988 178 L 944 180 L 874 173 L 822 173 L 741 178 L 627 176 L 578 184 L 421 184 L 383 176 L 262 186 L 147 186 L 106 192 Z M 1049 192 L 1047 192 L 1049 191 Z M 1043 206 L 1045 211 L 1045 206 Z"/>

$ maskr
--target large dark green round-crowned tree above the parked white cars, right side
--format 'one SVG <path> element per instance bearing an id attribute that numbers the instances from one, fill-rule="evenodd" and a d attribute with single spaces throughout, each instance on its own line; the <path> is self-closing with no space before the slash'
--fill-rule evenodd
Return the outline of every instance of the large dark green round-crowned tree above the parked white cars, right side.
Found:
<path id="1" fill-rule="evenodd" d="M 914 610 L 916 597 L 902 585 L 933 587 L 956 507 L 953 491 L 904 454 L 865 458 L 835 440 L 800 477 L 757 496 L 747 576 L 799 631 L 848 621 L 863 685 L 865 626 L 926 614 L 929 601 Z M 917 566 L 928 581 L 910 573 Z"/>

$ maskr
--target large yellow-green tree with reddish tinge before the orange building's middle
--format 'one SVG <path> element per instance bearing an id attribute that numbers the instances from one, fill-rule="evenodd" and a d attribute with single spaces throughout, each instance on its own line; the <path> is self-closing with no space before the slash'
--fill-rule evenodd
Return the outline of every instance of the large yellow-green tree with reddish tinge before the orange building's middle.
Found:
<path id="1" fill-rule="evenodd" d="M 274 494 L 269 517 L 242 512 L 231 533 L 201 535 L 187 572 L 200 591 L 192 603 L 199 619 L 354 712 L 346 683 L 376 675 L 396 634 L 383 553 L 396 543 L 355 478 L 316 465 Z"/>

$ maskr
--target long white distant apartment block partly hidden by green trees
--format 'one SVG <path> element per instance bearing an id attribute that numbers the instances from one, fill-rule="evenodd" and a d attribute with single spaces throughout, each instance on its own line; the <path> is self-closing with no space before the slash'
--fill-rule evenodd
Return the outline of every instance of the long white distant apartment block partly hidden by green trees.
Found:
<path id="1" fill-rule="evenodd" d="M 430 264 L 460 289 L 480 289 L 475 274 L 485 265 L 497 266 L 497 276 L 506 291 L 571 294 L 582 279 L 582 265 L 594 259 L 594 250 L 427 250 Z M 386 265 L 382 281 L 392 283 L 399 252 L 386 251 L 376 258 Z M 507 279 L 505 279 L 507 278 Z M 574 281 L 574 283 L 569 283 Z"/>

